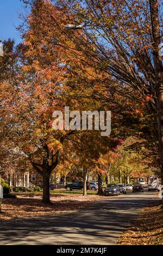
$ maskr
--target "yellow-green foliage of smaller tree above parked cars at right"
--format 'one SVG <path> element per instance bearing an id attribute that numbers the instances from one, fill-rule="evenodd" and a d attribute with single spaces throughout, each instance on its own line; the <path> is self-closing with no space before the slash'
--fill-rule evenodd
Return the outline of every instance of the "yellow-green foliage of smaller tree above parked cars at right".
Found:
<path id="1" fill-rule="evenodd" d="M 146 140 L 130 136 L 117 147 L 118 157 L 111 165 L 111 173 L 118 177 L 118 182 L 126 184 L 129 177 L 141 177 L 149 174 L 149 169 L 156 162 L 146 148 Z"/>

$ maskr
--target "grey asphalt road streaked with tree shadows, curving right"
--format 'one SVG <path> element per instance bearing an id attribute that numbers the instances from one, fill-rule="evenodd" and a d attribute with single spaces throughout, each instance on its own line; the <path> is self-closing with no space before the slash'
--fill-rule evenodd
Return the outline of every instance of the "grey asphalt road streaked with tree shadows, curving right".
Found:
<path id="1" fill-rule="evenodd" d="M 86 209 L 54 217 L 0 222 L 0 245 L 115 245 L 141 207 L 156 200 L 158 193 L 145 190 L 103 197 Z"/>

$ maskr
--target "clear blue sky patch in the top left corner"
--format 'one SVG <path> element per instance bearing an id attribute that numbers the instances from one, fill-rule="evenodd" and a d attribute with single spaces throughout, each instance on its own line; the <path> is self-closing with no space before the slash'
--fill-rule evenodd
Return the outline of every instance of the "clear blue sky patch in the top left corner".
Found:
<path id="1" fill-rule="evenodd" d="M 11 38 L 20 43 L 21 37 L 16 26 L 21 23 L 18 15 L 25 12 L 20 0 L 0 0 L 0 38 Z"/>

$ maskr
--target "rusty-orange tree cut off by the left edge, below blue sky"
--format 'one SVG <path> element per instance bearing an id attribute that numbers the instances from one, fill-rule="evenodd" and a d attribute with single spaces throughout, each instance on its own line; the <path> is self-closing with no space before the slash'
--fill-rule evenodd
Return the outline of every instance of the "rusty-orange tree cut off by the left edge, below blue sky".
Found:
<path id="1" fill-rule="evenodd" d="M 18 51 L 14 40 L 3 41 L 3 56 L 0 57 L 0 166 L 10 162 L 14 148 L 15 101 L 18 93 Z"/>

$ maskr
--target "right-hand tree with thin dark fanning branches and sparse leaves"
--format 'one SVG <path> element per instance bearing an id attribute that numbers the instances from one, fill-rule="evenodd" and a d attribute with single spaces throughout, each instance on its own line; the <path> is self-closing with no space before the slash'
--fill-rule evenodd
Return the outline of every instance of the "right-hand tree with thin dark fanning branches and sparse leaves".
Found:
<path id="1" fill-rule="evenodd" d="M 163 166 L 162 1 L 58 2 L 67 12 L 71 9 L 68 23 L 83 24 L 86 37 L 69 37 L 85 53 L 87 63 L 119 81 L 118 88 L 112 84 L 108 89 L 146 106 Z M 163 170 L 163 182 L 162 175 Z"/>

